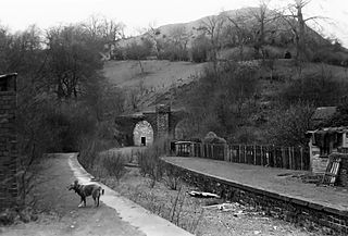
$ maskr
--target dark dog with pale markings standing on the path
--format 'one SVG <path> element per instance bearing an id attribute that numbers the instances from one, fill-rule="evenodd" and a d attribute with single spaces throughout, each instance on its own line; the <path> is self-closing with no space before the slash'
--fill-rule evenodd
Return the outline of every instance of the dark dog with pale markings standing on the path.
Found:
<path id="1" fill-rule="evenodd" d="M 82 185 L 78 184 L 78 181 L 75 181 L 73 184 L 71 184 L 69 186 L 69 190 L 74 190 L 80 197 L 78 208 L 83 206 L 86 207 L 86 198 L 88 196 L 94 198 L 95 207 L 99 207 L 100 196 L 104 194 L 104 189 L 102 189 L 101 186 L 97 184 Z"/>

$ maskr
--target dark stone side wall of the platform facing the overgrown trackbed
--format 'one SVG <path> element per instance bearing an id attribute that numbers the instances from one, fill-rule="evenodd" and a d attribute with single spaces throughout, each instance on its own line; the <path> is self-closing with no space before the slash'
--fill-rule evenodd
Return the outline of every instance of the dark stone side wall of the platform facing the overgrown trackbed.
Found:
<path id="1" fill-rule="evenodd" d="M 170 163 L 165 163 L 173 165 Z M 320 225 L 332 228 L 341 235 L 348 234 L 348 212 L 323 207 L 296 198 L 281 196 L 261 189 L 251 188 L 236 183 L 203 175 L 173 165 L 179 176 L 200 190 L 222 196 L 229 201 L 250 204 L 265 211 L 268 215 L 296 223 L 298 225 Z"/>

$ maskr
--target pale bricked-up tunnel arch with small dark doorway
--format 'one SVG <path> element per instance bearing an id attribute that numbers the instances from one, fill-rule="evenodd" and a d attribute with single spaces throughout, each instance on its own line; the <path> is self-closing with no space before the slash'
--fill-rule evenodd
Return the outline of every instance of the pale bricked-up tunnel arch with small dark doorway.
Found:
<path id="1" fill-rule="evenodd" d="M 133 131 L 135 146 L 150 146 L 153 144 L 153 128 L 147 121 L 138 122 Z"/>

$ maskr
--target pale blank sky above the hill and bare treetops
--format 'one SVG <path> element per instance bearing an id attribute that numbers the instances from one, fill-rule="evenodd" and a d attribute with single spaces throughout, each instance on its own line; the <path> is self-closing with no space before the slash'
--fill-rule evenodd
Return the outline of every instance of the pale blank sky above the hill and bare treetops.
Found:
<path id="1" fill-rule="evenodd" d="M 285 7 L 293 1 L 271 0 L 270 8 Z M 135 35 L 149 24 L 185 23 L 223 10 L 258 4 L 259 0 L 0 0 L 0 25 L 23 30 L 36 24 L 46 29 L 59 24 L 83 22 L 91 15 L 102 15 L 123 22 L 126 34 Z M 324 16 L 320 20 L 323 33 L 337 37 L 348 47 L 347 0 L 312 0 L 303 12 L 307 16 Z"/>

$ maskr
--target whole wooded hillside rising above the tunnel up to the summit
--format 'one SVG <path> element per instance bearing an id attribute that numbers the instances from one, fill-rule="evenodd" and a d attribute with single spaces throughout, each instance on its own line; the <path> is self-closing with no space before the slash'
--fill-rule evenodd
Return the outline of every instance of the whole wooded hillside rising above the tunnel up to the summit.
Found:
<path id="1" fill-rule="evenodd" d="M 307 145 L 313 109 L 338 105 L 348 91 L 348 53 L 307 26 L 300 45 L 295 20 L 270 10 L 260 36 L 259 13 L 152 28 L 119 41 L 103 73 L 125 94 L 126 113 L 159 103 L 190 111 L 188 138 L 213 131 L 235 142 Z"/>

